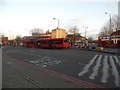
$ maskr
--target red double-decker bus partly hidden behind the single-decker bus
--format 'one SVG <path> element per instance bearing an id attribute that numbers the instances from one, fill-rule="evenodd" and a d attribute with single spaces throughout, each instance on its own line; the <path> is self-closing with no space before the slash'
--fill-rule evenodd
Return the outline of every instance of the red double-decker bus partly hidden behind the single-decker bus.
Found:
<path id="1" fill-rule="evenodd" d="M 37 41 L 39 39 L 48 39 L 50 36 L 24 36 L 23 37 L 23 46 L 25 47 L 37 47 Z"/>

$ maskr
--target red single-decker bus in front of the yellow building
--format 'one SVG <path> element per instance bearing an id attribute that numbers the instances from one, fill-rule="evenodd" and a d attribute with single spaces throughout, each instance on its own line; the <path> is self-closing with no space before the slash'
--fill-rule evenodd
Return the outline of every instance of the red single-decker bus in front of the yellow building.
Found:
<path id="1" fill-rule="evenodd" d="M 69 39 L 55 38 L 55 39 L 39 39 L 38 47 L 41 48 L 69 48 Z"/>

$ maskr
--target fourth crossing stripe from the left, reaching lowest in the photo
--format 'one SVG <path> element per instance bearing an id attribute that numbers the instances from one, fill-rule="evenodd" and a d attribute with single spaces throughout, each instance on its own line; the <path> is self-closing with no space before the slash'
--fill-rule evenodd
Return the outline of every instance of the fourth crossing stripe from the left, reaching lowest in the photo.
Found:
<path id="1" fill-rule="evenodd" d="M 117 71 L 117 68 L 115 66 L 115 63 L 114 63 L 114 60 L 113 60 L 112 56 L 110 56 L 110 64 L 112 66 L 112 74 L 115 77 L 115 85 L 117 87 L 120 87 L 120 77 L 119 77 L 119 74 L 118 74 L 118 71 Z"/>

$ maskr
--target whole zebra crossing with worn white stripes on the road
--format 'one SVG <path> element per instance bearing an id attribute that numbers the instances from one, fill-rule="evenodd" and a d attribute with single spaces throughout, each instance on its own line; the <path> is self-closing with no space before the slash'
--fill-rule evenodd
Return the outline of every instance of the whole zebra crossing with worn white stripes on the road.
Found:
<path id="1" fill-rule="evenodd" d="M 102 70 L 100 70 L 100 67 Z M 114 84 L 120 87 L 120 56 L 116 55 L 94 55 L 94 57 L 86 64 L 82 71 L 78 73 L 78 76 L 84 76 L 92 70 L 92 73 L 88 76 L 89 79 L 95 79 L 99 72 L 102 72 L 101 82 L 107 82 L 110 79 L 110 75 L 114 76 Z M 111 70 L 112 73 L 109 72 Z"/>

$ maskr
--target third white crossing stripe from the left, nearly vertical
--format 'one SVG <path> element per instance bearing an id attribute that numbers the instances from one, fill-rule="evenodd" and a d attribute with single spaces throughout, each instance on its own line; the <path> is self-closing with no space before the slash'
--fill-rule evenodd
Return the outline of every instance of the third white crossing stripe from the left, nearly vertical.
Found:
<path id="1" fill-rule="evenodd" d="M 108 74 L 109 64 L 107 63 L 107 61 L 108 61 L 108 56 L 106 55 L 103 59 L 103 69 L 102 69 L 103 76 L 101 79 L 101 82 L 103 82 L 103 83 L 106 83 L 107 78 L 109 77 L 109 74 Z"/>

